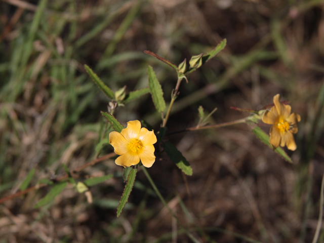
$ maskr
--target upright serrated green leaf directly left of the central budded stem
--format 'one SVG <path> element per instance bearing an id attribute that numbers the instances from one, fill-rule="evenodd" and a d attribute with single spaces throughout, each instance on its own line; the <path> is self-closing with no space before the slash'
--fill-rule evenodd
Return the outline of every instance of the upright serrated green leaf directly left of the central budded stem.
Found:
<path id="1" fill-rule="evenodd" d="M 157 80 L 155 72 L 151 66 L 147 68 L 148 85 L 152 95 L 155 108 L 158 112 L 163 112 L 166 109 L 166 102 L 163 98 L 163 91 L 160 83 Z"/>

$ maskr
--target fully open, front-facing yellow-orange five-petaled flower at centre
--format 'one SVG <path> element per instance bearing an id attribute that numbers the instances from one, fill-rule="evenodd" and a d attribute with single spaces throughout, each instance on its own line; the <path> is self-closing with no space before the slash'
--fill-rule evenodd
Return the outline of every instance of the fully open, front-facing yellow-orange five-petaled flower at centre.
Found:
<path id="1" fill-rule="evenodd" d="M 131 120 L 127 124 L 127 128 L 120 133 L 109 134 L 109 143 L 120 155 L 115 160 L 116 165 L 130 167 L 137 165 L 141 159 L 143 166 L 151 167 L 155 161 L 153 144 L 157 141 L 154 132 L 141 128 L 139 120 Z"/>

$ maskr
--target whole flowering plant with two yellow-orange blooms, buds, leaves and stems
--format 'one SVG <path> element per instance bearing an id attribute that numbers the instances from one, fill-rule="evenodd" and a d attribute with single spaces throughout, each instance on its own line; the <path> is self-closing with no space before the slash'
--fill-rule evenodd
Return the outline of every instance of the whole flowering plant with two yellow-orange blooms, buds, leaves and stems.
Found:
<path id="1" fill-rule="evenodd" d="M 175 80 L 174 82 L 175 88 L 170 94 L 171 100 L 169 101 L 169 105 L 167 105 L 164 99 L 164 91 L 155 75 L 153 67 L 151 66 L 148 66 L 147 69 L 148 87 L 127 93 L 126 87 L 122 87 L 113 92 L 106 84 L 102 82 L 102 80 L 96 75 L 96 73 L 92 71 L 92 69 L 89 66 L 85 65 L 85 69 L 92 77 L 94 83 L 102 90 L 102 92 L 108 98 L 108 112 L 102 111 L 101 114 L 107 118 L 107 121 L 109 123 L 106 124 L 104 131 L 101 133 L 101 141 L 96 146 L 96 159 L 91 161 L 91 163 L 88 163 L 87 165 L 80 167 L 77 170 L 74 170 L 73 173 L 75 171 L 81 171 L 88 166 L 93 166 L 99 161 L 102 161 L 104 158 L 110 158 L 115 154 L 119 155 L 115 157 L 114 161 L 116 165 L 123 166 L 125 168 L 124 179 L 127 182 L 125 185 L 124 193 L 123 195 L 121 195 L 120 203 L 117 208 L 117 217 L 121 214 L 123 208 L 125 207 L 128 201 L 138 170 L 142 170 L 144 172 L 147 179 L 151 183 L 151 186 L 153 187 L 154 191 L 159 196 L 160 200 L 165 204 L 166 208 L 170 210 L 168 204 L 158 191 L 157 187 L 155 186 L 155 183 L 151 179 L 146 168 L 158 166 L 154 164 L 155 159 L 159 157 L 160 153 L 165 153 L 185 175 L 191 176 L 193 174 L 189 161 L 182 155 L 182 153 L 177 149 L 177 147 L 174 144 L 168 141 L 168 136 L 171 134 L 188 132 L 193 130 L 216 129 L 235 124 L 246 123 L 253 127 L 252 132 L 257 136 L 257 138 L 259 138 L 263 143 L 272 148 L 273 151 L 279 154 L 281 157 L 292 162 L 291 158 L 286 154 L 284 149 L 279 147 L 279 145 L 286 145 L 290 150 L 296 149 L 296 143 L 293 134 L 297 133 L 298 131 L 297 124 L 300 121 L 300 116 L 297 113 L 291 113 L 291 107 L 289 105 L 280 103 L 279 95 L 274 96 L 274 104 L 270 105 L 270 110 L 267 110 L 266 108 L 261 110 L 251 110 L 231 107 L 232 109 L 235 109 L 237 111 L 248 112 L 250 113 L 250 115 L 245 118 L 216 125 L 207 125 L 208 118 L 212 115 L 213 112 L 216 111 L 216 108 L 210 114 L 206 114 L 204 112 L 203 107 L 200 106 L 197 112 L 199 121 L 196 126 L 186 128 L 180 131 L 167 132 L 168 120 L 169 118 L 172 118 L 171 111 L 173 108 L 173 104 L 178 97 L 180 85 L 183 83 L 184 80 L 186 82 L 189 82 L 189 74 L 195 71 L 196 69 L 200 68 L 210 59 L 214 58 L 221 50 L 225 48 L 225 46 L 226 39 L 224 39 L 216 48 L 214 48 L 207 54 L 195 55 L 188 62 L 185 59 L 179 65 L 173 64 L 169 60 L 166 60 L 165 58 L 160 57 L 153 52 L 145 51 L 146 54 L 153 56 L 159 61 L 168 64 L 177 74 L 177 80 Z M 123 107 L 127 106 L 128 103 L 145 94 L 151 95 L 152 102 L 156 108 L 156 111 L 160 114 L 160 129 L 158 131 L 153 131 L 149 124 L 141 124 L 139 120 L 126 120 L 127 127 L 125 128 L 116 119 L 116 117 L 118 117 L 118 113 L 116 117 L 114 116 L 116 109 L 123 109 Z M 270 137 L 258 126 L 260 120 L 262 120 L 266 124 L 272 125 L 270 129 Z M 114 131 L 110 132 L 109 137 L 107 138 L 107 131 L 109 131 L 109 129 L 111 128 Z M 103 147 L 103 144 L 108 143 L 111 145 L 111 151 L 114 150 L 115 154 L 111 153 L 103 157 L 98 157 Z M 69 172 L 67 168 L 65 168 L 65 171 L 67 175 L 58 180 L 60 183 L 55 185 L 49 192 L 49 194 L 38 202 L 37 207 L 42 207 L 50 203 L 50 201 L 53 201 L 54 197 L 57 194 L 59 194 L 67 185 L 67 179 L 69 180 L 69 183 L 72 183 L 75 186 L 75 189 L 79 193 L 87 193 L 86 195 L 88 201 L 89 203 L 91 203 L 92 198 L 91 192 L 89 191 L 89 187 L 98 183 L 102 183 L 103 181 L 113 177 L 113 175 L 106 175 L 100 178 L 89 178 L 87 180 L 84 180 L 83 182 L 76 183 L 73 179 L 73 176 L 71 175 L 71 172 Z M 0 199 L 0 203 L 1 202 L 2 201 Z M 173 215 L 173 217 L 177 219 L 177 217 L 173 214 L 171 210 L 170 213 Z M 181 222 L 178 222 L 181 225 Z M 186 227 L 183 227 L 183 230 L 194 242 L 197 242 L 195 237 L 186 229 Z"/>

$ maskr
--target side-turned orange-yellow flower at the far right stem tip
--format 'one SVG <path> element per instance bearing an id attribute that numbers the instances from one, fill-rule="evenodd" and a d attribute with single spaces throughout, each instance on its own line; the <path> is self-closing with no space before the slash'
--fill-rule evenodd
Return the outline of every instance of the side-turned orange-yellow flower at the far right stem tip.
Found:
<path id="1" fill-rule="evenodd" d="M 270 143 L 273 148 L 287 146 L 290 150 L 297 148 L 293 133 L 298 132 L 297 123 L 300 121 L 300 115 L 291 114 L 291 106 L 280 103 L 280 95 L 273 97 L 274 106 L 270 111 L 266 110 L 262 115 L 262 121 L 266 124 L 273 124 L 270 129 Z"/>

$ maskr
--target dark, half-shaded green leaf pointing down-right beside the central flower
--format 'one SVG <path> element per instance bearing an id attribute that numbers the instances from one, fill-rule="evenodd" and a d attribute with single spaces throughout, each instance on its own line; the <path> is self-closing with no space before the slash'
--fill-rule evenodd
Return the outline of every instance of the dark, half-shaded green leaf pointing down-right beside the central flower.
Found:
<path id="1" fill-rule="evenodd" d="M 167 155 L 170 157 L 171 161 L 176 164 L 179 169 L 181 169 L 184 174 L 191 176 L 192 169 L 189 165 L 187 159 L 182 155 L 182 153 L 169 141 L 162 144 L 162 147 L 167 152 Z"/>

